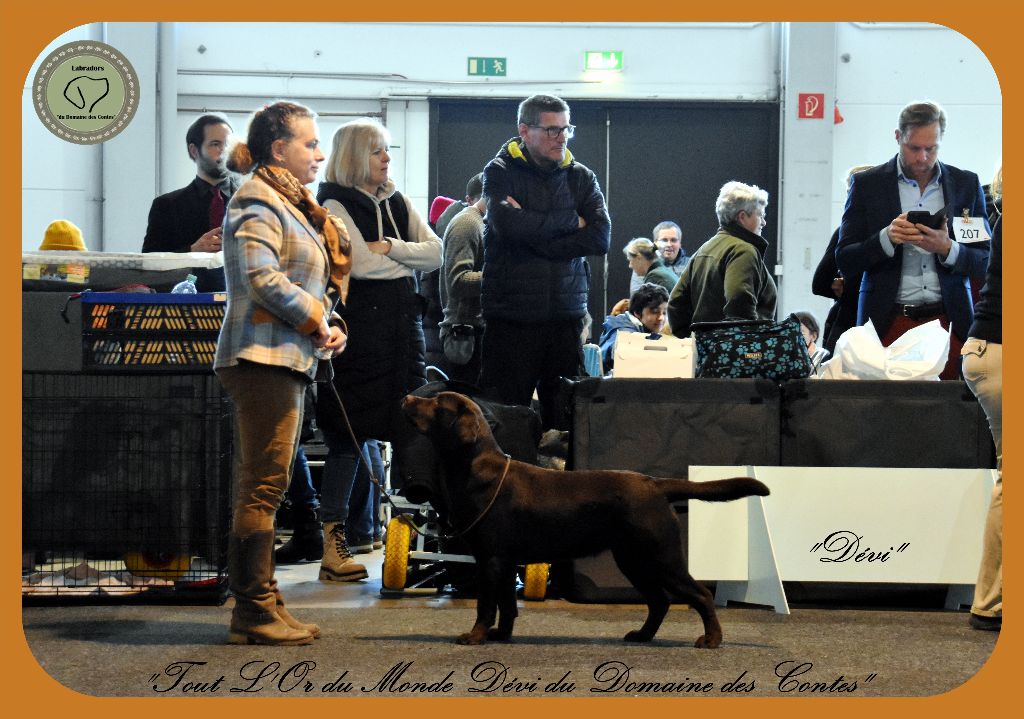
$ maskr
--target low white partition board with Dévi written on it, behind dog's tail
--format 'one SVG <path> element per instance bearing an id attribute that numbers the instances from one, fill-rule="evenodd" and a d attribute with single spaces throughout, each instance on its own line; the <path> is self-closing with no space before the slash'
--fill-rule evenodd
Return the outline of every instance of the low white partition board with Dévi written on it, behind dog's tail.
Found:
<path id="1" fill-rule="evenodd" d="M 864 467 L 691 467 L 694 481 L 753 473 L 781 580 L 973 585 L 994 471 Z M 689 503 L 696 579 L 751 576 L 751 500 Z M 859 558 L 858 558 L 859 557 Z M 759 576 L 771 575 L 760 567 Z"/>

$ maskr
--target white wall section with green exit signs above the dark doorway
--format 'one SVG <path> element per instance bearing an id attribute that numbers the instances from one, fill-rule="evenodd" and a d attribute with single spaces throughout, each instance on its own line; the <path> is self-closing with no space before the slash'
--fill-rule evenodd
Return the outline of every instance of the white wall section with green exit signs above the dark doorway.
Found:
<path id="1" fill-rule="evenodd" d="M 240 93 L 304 97 L 519 97 L 545 91 L 566 97 L 765 99 L 773 98 L 777 87 L 777 33 L 770 23 L 295 23 L 274 24 L 272 43 L 266 42 L 268 30 L 264 24 L 180 24 L 180 91 L 220 94 L 220 73 L 228 70 L 373 76 L 231 80 Z M 246 51 L 268 46 L 289 51 Z M 606 81 L 586 75 L 585 50 L 622 50 L 626 71 Z M 507 77 L 467 77 L 471 56 L 507 57 Z"/>

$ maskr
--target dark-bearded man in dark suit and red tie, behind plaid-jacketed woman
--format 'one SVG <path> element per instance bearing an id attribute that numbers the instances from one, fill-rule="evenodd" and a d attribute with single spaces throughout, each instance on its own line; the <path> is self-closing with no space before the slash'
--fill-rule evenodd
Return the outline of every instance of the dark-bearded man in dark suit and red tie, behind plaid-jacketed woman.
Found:
<path id="1" fill-rule="evenodd" d="M 181 189 L 161 195 L 150 208 L 142 252 L 218 252 L 224 207 L 239 187 L 227 171 L 227 137 L 231 126 L 218 115 L 204 115 L 185 133 L 196 179 Z M 224 289 L 223 269 L 197 272 L 200 292 Z"/>

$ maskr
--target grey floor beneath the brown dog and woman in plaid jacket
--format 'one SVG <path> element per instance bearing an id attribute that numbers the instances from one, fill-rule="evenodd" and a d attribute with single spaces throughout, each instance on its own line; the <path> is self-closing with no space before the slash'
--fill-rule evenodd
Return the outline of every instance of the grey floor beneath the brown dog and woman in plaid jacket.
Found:
<path id="1" fill-rule="evenodd" d="M 520 602 L 513 642 L 467 647 L 453 639 L 472 625 L 473 600 L 432 591 L 382 598 L 382 553 L 360 558 L 371 578 L 354 584 L 317 581 L 318 564 L 279 567 L 289 607 L 323 628 L 309 646 L 224 644 L 230 600 L 27 606 L 26 636 L 57 681 L 106 696 L 596 697 L 678 695 L 681 685 L 723 696 L 737 679 L 733 690 L 748 696 L 930 695 L 967 681 L 997 639 L 940 609 L 796 606 L 781 616 L 730 606 L 719 610 L 722 647 L 700 650 L 699 619 L 675 606 L 656 639 L 637 645 L 622 636 L 639 626 L 642 606 L 549 599 Z M 799 674 L 779 676 L 787 671 Z"/>

